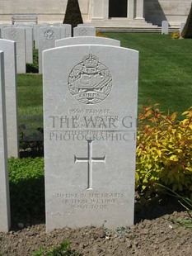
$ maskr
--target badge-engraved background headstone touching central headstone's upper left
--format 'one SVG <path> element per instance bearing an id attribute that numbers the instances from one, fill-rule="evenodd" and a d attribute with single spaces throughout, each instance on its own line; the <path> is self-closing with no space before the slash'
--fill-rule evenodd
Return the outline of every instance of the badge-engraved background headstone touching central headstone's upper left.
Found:
<path id="1" fill-rule="evenodd" d="M 42 52 L 54 48 L 55 40 L 61 38 L 61 29 L 54 26 L 43 26 L 39 29 L 39 73 L 42 73 Z"/>

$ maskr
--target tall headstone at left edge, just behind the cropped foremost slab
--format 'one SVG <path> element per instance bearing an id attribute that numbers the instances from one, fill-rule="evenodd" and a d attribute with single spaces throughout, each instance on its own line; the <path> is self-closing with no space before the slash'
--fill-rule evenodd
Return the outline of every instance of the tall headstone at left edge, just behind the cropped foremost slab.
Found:
<path id="1" fill-rule="evenodd" d="M 16 95 L 16 42 L 0 39 L 0 50 L 4 52 L 7 153 L 8 157 L 13 156 L 18 158 L 19 138 Z"/>

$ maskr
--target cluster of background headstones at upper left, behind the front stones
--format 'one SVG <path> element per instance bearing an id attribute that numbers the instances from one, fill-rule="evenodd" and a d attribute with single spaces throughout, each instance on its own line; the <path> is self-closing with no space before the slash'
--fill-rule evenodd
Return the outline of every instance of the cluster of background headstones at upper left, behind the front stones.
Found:
<path id="1" fill-rule="evenodd" d="M 42 73 L 42 51 L 54 47 L 55 40 L 70 37 L 72 28 L 69 24 L 40 25 L 2 25 L 1 37 L 16 41 L 16 71 L 26 73 L 26 63 L 33 63 L 33 49 L 39 49 L 39 73 Z M 96 28 L 77 26 L 74 36 L 96 36 Z"/>

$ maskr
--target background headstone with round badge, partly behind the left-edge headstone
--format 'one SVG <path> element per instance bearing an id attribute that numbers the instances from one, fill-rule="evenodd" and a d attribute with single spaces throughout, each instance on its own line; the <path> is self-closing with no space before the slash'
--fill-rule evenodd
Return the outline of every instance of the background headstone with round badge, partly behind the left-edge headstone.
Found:
<path id="1" fill-rule="evenodd" d="M 19 27 L 3 28 L 2 38 L 16 41 L 16 72 L 26 73 L 26 30 Z"/>

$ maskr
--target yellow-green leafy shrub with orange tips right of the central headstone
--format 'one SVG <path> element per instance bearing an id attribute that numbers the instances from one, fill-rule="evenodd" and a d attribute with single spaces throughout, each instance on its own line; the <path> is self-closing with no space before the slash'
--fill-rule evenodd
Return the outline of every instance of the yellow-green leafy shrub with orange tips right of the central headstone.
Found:
<path id="1" fill-rule="evenodd" d="M 192 194 L 192 107 L 176 121 L 157 104 L 143 107 L 138 119 L 136 189 L 146 197 L 162 183 Z"/>

